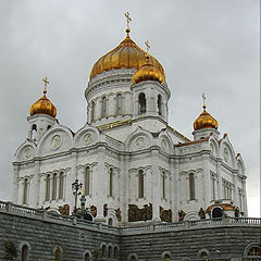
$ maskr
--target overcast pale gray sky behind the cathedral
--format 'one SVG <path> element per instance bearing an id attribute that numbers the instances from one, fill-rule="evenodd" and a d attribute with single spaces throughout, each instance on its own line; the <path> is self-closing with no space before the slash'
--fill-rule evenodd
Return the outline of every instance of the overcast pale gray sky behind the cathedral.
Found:
<path id="1" fill-rule="evenodd" d="M 48 97 L 61 124 L 86 122 L 84 90 L 94 63 L 130 37 L 163 65 L 172 91 L 170 125 L 192 138 L 207 110 L 247 167 L 248 209 L 260 216 L 259 0 L 0 0 L 0 200 L 12 197 L 12 161 L 27 136 L 29 107 Z"/>

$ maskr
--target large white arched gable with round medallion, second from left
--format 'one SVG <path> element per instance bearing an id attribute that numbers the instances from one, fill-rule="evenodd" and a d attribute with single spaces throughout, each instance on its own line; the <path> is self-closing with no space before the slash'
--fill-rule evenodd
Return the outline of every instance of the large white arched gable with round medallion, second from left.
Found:
<path id="1" fill-rule="evenodd" d="M 37 146 L 37 156 L 69 151 L 73 148 L 73 133 L 70 128 L 55 124 L 40 139 Z"/>

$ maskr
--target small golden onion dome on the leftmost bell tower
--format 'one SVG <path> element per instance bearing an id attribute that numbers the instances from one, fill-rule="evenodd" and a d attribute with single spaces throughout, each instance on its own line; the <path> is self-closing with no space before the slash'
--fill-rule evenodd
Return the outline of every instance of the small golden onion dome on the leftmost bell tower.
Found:
<path id="1" fill-rule="evenodd" d="M 50 102 L 50 100 L 46 97 L 47 90 L 45 87 L 44 96 L 36 101 L 33 105 L 30 105 L 30 115 L 35 114 L 47 114 L 49 116 L 55 117 L 57 108 Z"/>

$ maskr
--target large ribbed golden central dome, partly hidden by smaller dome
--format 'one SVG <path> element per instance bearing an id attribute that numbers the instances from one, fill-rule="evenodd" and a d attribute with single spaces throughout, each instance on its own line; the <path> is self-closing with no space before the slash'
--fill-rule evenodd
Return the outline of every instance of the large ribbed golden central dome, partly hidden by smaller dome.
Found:
<path id="1" fill-rule="evenodd" d="M 97 74 L 113 69 L 137 69 L 139 70 L 146 61 L 146 52 L 140 49 L 129 37 L 129 30 L 126 38 L 113 50 L 101 57 L 94 65 L 90 72 L 90 79 Z M 165 73 L 159 61 L 150 55 L 149 63 L 154 65 L 162 74 L 163 82 Z"/>

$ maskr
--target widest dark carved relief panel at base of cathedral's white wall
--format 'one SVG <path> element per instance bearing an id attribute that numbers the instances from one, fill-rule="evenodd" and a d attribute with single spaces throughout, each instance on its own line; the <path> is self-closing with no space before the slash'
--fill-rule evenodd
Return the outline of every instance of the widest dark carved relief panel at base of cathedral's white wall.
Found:
<path id="1" fill-rule="evenodd" d="M 136 204 L 128 204 L 128 221 L 147 221 L 152 220 L 152 204 L 145 204 L 142 209 L 139 209 Z"/>

